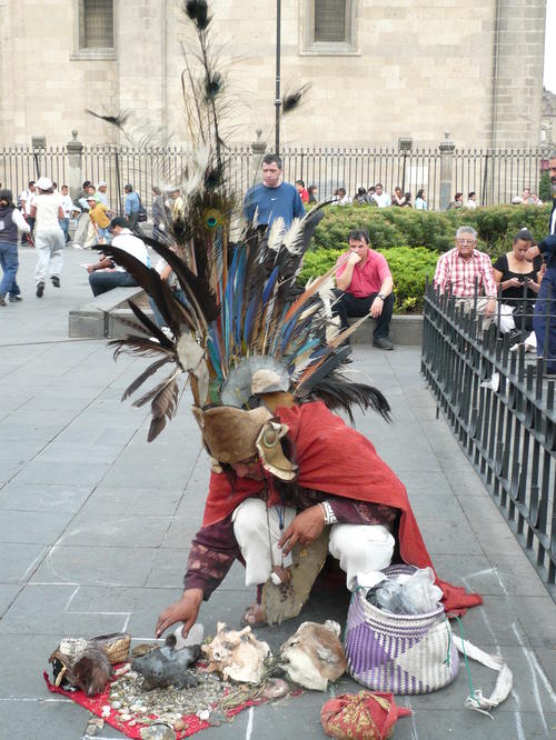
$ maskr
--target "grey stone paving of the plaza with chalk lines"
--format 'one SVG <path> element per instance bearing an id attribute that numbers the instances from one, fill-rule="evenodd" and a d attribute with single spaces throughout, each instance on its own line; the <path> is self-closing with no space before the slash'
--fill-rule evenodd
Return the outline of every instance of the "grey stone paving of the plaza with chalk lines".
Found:
<path id="1" fill-rule="evenodd" d="M 157 614 L 180 594 L 208 479 L 187 396 L 177 419 L 148 444 L 147 414 L 119 401 L 141 362 L 115 363 L 103 341 L 68 340 L 68 310 L 89 299 L 79 263 L 92 254 L 68 249 L 66 257 L 61 289 L 47 286 L 39 301 L 34 252 L 24 248 L 24 301 L 0 309 L 2 739 L 82 737 L 88 712 L 46 690 L 48 656 L 66 636 L 127 629 L 138 640 L 152 637 Z M 515 677 L 494 721 L 464 709 L 465 668 L 444 690 L 399 698 L 414 716 L 400 720 L 396 737 L 556 737 L 556 606 L 448 427 L 435 419 L 418 350 L 357 347 L 354 367 L 391 402 L 390 426 L 358 414 L 357 428 L 406 483 L 438 572 L 484 596 L 485 604 L 463 620 L 465 636 L 504 654 Z M 203 604 L 208 633 L 217 621 L 238 624 L 252 598 L 241 576 L 235 567 Z M 347 600 L 318 593 L 298 620 L 257 633 L 276 647 L 300 621 L 344 623 L 346 611 Z M 471 664 L 471 674 L 489 693 L 494 673 Z M 334 691 L 357 689 L 342 678 Z M 325 700 L 306 692 L 199 737 L 321 738 Z M 106 727 L 97 737 L 121 736 Z"/>

